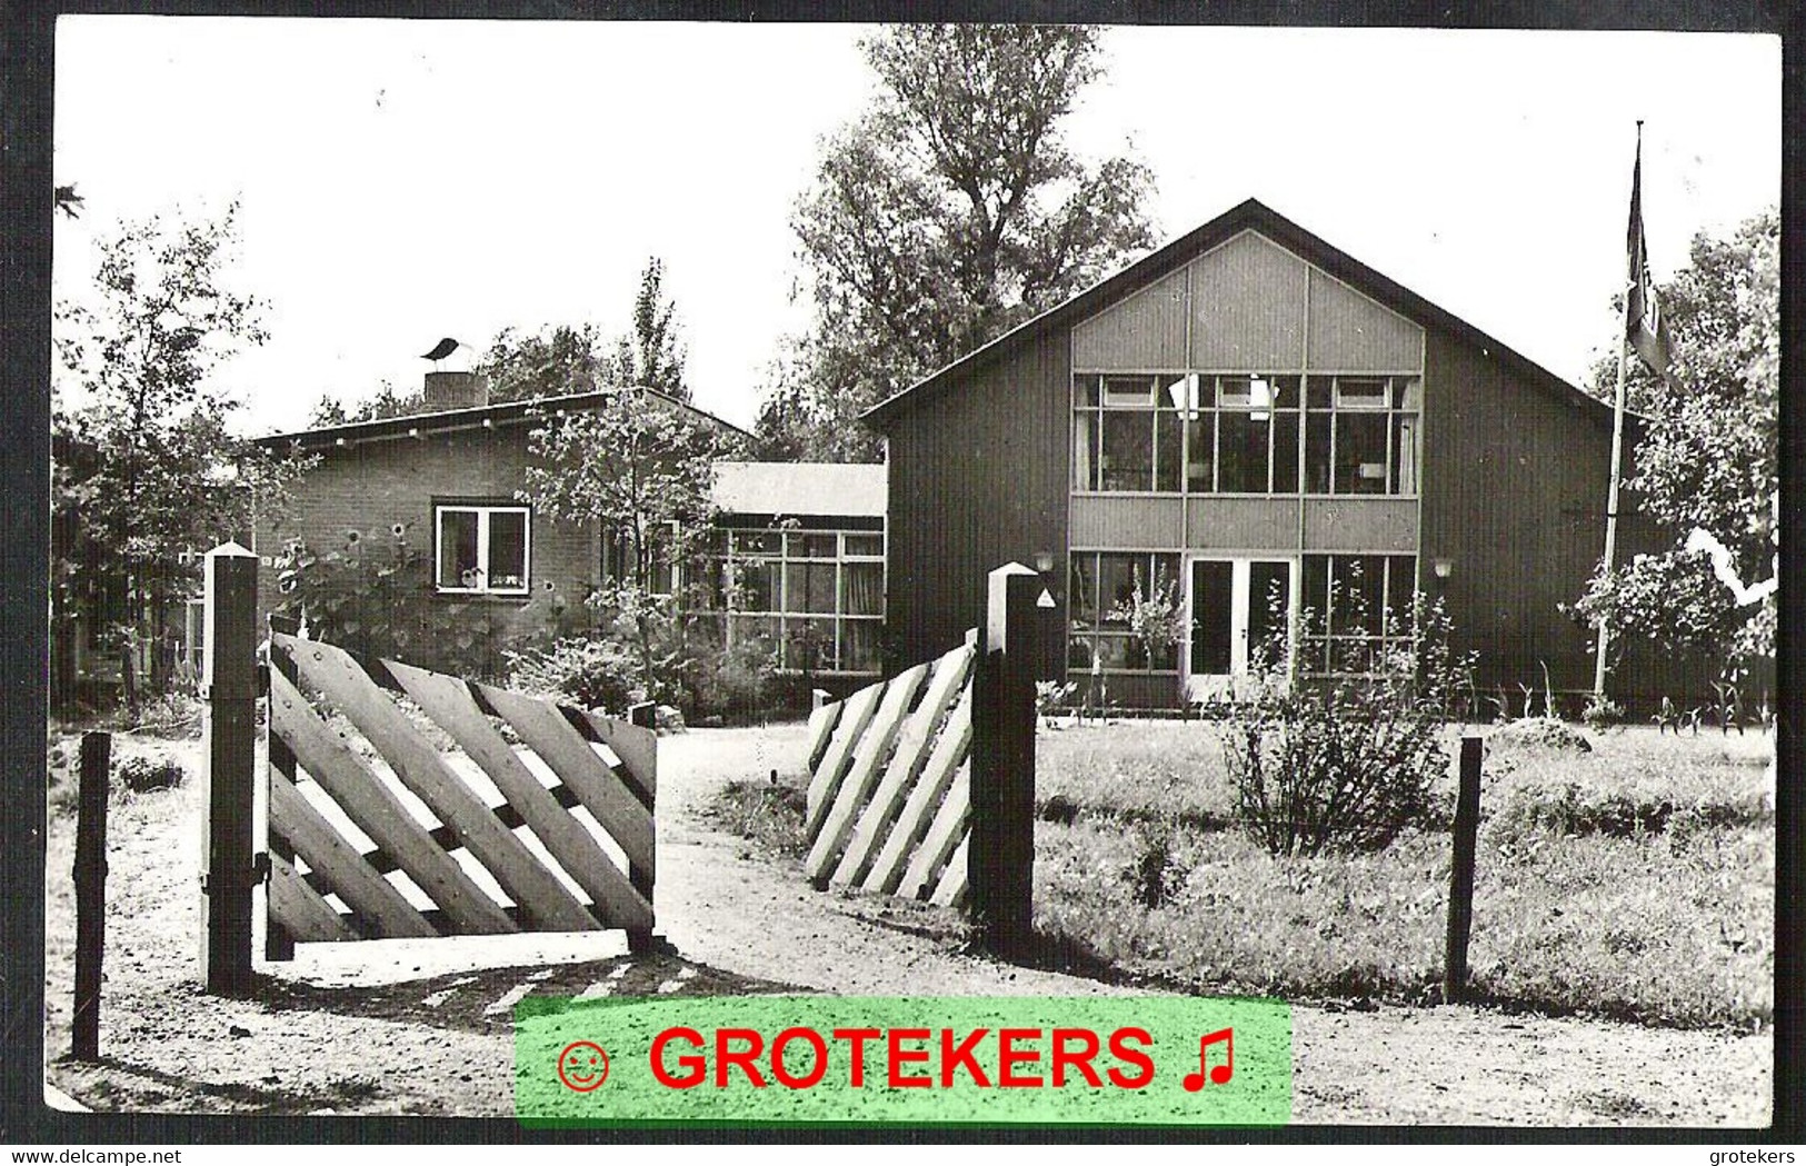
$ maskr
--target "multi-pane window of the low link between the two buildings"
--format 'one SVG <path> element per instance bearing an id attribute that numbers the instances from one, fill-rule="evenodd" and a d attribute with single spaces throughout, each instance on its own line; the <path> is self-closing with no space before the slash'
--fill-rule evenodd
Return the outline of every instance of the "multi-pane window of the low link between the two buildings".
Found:
<path id="1" fill-rule="evenodd" d="M 728 643 L 771 644 L 796 671 L 878 671 L 885 540 L 872 531 L 728 531 L 722 579 Z"/>

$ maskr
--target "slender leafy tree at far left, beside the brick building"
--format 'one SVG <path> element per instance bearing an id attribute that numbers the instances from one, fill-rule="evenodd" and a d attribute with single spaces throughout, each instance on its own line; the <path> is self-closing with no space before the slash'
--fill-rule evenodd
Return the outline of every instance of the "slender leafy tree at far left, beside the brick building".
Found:
<path id="1" fill-rule="evenodd" d="M 211 374 L 265 339 L 262 303 L 224 282 L 235 242 L 237 204 L 211 222 L 123 224 L 101 242 L 92 294 L 56 310 L 72 383 L 52 421 L 54 615 L 112 639 L 134 715 L 139 682 L 166 679 L 159 653 L 150 677 L 137 657 L 199 579 L 186 552 L 242 538 L 302 471 L 226 430 L 237 403 Z"/>

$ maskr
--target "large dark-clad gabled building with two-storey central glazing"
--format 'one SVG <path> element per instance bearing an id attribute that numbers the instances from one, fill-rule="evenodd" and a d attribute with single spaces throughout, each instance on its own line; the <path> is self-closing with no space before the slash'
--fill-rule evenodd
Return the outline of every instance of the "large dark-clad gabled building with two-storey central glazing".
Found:
<path id="1" fill-rule="evenodd" d="M 1477 695 L 1541 691 L 1544 666 L 1557 689 L 1591 688 L 1591 628 L 1562 605 L 1602 552 L 1611 408 L 1261 202 L 865 421 L 887 439 L 901 662 L 957 643 L 984 574 L 1017 560 L 1057 601 L 1044 675 L 1125 706 L 1226 691 L 1304 608 L 1327 621 L 1295 635 L 1295 670 L 1362 671 L 1382 610 L 1418 590 L 1479 655 Z M 1622 511 L 1620 561 L 1663 543 Z M 1138 588 L 1170 588 L 1178 648 L 1114 614 Z M 1636 652 L 1613 684 L 1701 688 Z"/>

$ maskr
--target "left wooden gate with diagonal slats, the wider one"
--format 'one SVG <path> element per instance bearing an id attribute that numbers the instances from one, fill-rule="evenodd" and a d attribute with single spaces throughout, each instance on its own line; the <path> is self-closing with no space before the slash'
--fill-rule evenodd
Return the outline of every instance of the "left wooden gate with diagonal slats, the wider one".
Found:
<path id="1" fill-rule="evenodd" d="M 269 664 L 273 957 L 293 940 L 650 935 L 650 729 L 284 634 Z"/>

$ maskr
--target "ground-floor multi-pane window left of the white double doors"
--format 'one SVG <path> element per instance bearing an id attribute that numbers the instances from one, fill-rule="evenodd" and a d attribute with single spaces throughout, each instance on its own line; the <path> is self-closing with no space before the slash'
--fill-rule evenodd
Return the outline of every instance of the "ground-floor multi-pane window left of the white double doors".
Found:
<path id="1" fill-rule="evenodd" d="M 1129 630 L 1127 612 L 1141 601 L 1185 601 L 1178 554 L 1075 551 L 1067 605 L 1067 668 L 1089 671 L 1178 671 L 1183 644 L 1152 650 Z"/>

